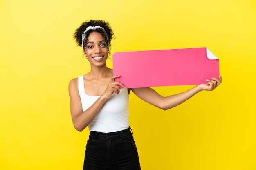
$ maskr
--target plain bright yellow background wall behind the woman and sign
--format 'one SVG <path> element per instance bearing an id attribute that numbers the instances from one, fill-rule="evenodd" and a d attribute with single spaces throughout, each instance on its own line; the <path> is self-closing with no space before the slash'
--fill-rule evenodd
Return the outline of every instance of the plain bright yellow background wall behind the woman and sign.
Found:
<path id="1" fill-rule="evenodd" d="M 82 169 L 89 133 L 72 125 L 67 87 L 90 70 L 72 40 L 89 19 L 110 22 L 112 53 L 207 47 L 220 59 L 222 85 L 178 107 L 130 95 L 143 170 L 256 169 L 255 0 L 1 0 L 1 170 Z"/>

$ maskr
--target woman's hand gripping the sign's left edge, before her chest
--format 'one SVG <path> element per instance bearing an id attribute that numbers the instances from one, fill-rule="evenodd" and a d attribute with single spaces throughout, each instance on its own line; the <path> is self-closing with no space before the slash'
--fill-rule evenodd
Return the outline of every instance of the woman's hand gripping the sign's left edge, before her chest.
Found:
<path id="1" fill-rule="evenodd" d="M 112 94 L 119 94 L 120 89 L 119 86 L 126 88 L 122 83 L 119 81 L 114 81 L 115 78 L 120 77 L 120 75 L 112 76 L 110 79 L 110 82 L 108 83 L 108 86 L 105 90 L 105 92 L 101 95 L 102 97 L 109 99 Z"/>

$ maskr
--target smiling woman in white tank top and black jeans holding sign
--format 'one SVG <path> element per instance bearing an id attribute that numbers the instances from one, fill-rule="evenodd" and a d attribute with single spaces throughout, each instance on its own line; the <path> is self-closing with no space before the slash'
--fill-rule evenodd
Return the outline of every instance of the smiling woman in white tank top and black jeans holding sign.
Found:
<path id="1" fill-rule="evenodd" d="M 78 46 L 82 46 L 91 65 L 89 73 L 72 79 L 69 84 L 74 127 L 83 131 L 88 126 L 91 131 L 84 170 L 140 170 L 128 122 L 130 90 L 142 100 L 166 110 L 202 90 L 212 91 L 222 80 L 221 77 L 212 78 L 207 80 L 207 84 L 167 97 L 160 96 L 149 87 L 126 89 L 124 84 L 114 81 L 119 75 L 113 75 L 113 70 L 106 65 L 113 37 L 109 23 L 102 20 L 85 21 L 74 33 L 74 39 Z"/>

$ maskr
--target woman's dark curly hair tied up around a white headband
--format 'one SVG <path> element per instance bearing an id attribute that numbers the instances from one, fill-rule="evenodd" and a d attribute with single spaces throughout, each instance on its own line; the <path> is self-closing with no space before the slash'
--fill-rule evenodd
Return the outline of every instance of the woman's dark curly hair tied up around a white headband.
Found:
<path id="1" fill-rule="evenodd" d="M 88 30 L 86 32 L 84 42 L 82 42 L 83 31 L 85 31 L 88 26 L 101 26 L 106 31 L 108 37 L 106 37 L 106 34 L 103 33 L 102 29 Z M 102 36 L 107 41 L 106 44 L 108 46 L 108 51 L 109 51 L 111 49 L 111 40 L 115 37 L 115 34 L 112 31 L 112 28 L 109 25 L 109 22 L 106 22 L 106 21 L 103 21 L 103 20 L 90 20 L 90 21 L 83 22 L 79 26 L 79 28 L 77 28 L 76 31 L 74 32 L 74 39 L 76 40 L 77 46 L 82 47 L 82 43 L 83 43 L 83 48 L 84 48 L 83 51 L 84 51 L 85 47 L 86 47 L 86 44 L 87 44 L 87 41 L 88 41 L 88 36 L 93 31 L 96 31 L 96 32 L 102 34 Z"/>

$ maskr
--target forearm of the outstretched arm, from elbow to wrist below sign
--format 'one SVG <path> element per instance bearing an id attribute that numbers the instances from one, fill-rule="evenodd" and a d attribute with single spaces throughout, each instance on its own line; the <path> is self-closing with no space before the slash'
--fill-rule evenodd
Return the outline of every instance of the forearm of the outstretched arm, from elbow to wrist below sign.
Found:
<path id="1" fill-rule="evenodd" d="M 182 92 L 180 94 L 175 94 L 172 96 L 167 96 L 162 98 L 162 104 L 160 105 L 160 108 L 163 110 L 171 109 L 177 105 L 182 104 L 186 100 L 189 100 L 192 96 L 197 94 L 198 92 L 201 92 L 202 89 L 197 85 L 193 87 L 192 89 L 187 90 L 186 92 Z"/>

